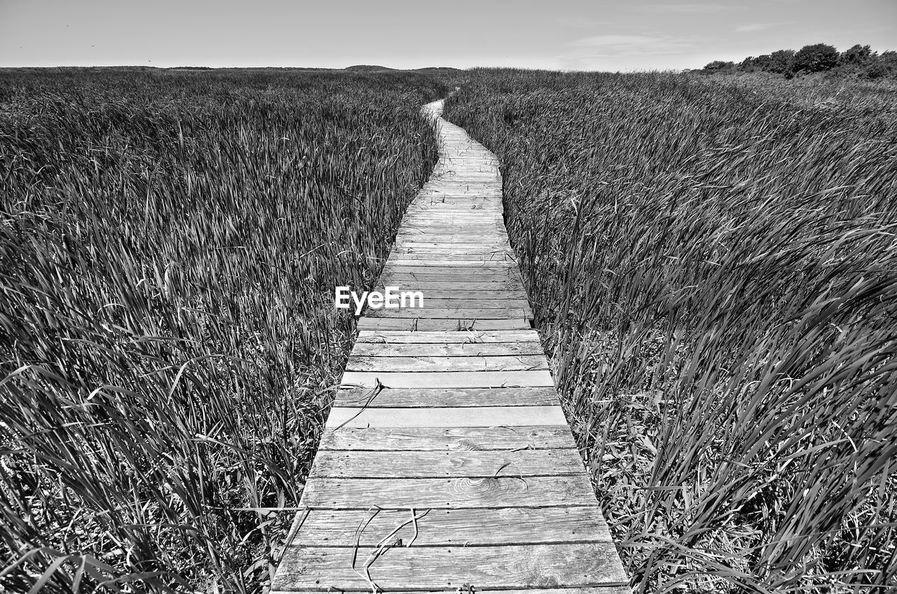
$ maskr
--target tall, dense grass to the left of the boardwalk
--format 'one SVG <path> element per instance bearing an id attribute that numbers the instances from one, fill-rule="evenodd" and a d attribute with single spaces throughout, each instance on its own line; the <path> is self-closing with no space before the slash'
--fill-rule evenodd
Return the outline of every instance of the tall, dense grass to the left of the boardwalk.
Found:
<path id="1" fill-rule="evenodd" d="M 0 590 L 266 584 L 444 92 L 0 78 Z"/>

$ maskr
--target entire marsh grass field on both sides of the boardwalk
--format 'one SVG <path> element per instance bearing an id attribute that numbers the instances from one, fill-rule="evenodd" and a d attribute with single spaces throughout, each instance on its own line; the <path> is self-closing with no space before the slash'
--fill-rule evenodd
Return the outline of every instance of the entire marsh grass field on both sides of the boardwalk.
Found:
<path id="1" fill-rule="evenodd" d="M 0 74 L 0 590 L 264 590 L 453 76 Z M 893 591 L 893 83 L 464 79 L 634 590 Z"/>

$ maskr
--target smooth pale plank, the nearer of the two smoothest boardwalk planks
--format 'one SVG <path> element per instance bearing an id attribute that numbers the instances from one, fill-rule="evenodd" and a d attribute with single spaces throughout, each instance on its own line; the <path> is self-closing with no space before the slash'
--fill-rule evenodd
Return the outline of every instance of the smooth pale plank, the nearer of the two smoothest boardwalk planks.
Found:
<path id="1" fill-rule="evenodd" d="M 566 425 L 561 406 L 466 406 L 446 408 L 336 407 L 327 416 L 335 427 L 525 427 Z"/>

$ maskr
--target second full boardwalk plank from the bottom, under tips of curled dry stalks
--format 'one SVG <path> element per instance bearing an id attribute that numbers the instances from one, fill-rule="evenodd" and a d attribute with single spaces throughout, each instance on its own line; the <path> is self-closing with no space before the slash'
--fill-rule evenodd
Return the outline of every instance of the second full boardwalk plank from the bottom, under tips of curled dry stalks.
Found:
<path id="1" fill-rule="evenodd" d="M 409 521 L 413 517 L 418 517 L 416 537 L 414 523 Z M 364 529 L 360 530 L 360 526 Z M 401 541 L 405 545 L 414 541 L 413 546 L 613 542 L 601 508 L 596 505 L 421 510 L 414 515 L 410 510 L 385 510 L 376 514 L 367 510 L 312 510 L 302 522 L 297 542 L 303 546 L 353 547 L 356 542 L 359 546 L 378 546 L 387 537 L 389 543 Z"/>

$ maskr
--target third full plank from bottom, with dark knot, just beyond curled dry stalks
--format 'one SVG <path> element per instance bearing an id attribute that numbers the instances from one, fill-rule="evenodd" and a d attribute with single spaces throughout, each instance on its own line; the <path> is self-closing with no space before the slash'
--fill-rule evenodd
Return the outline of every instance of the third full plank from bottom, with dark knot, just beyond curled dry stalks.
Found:
<path id="1" fill-rule="evenodd" d="M 597 505 L 586 473 L 497 478 L 310 478 L 302 505 L 319 510 Z"/>

